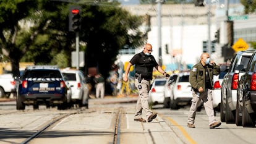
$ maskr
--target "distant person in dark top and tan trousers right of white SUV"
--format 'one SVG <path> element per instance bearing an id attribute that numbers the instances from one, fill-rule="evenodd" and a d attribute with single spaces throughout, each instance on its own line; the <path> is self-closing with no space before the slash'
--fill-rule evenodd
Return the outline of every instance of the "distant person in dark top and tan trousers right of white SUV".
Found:
<path id="1" fill-rule="evenodd" d="M 95 75 L 96 98 L 104 98 L 105 80 L 101 74 Z"/>

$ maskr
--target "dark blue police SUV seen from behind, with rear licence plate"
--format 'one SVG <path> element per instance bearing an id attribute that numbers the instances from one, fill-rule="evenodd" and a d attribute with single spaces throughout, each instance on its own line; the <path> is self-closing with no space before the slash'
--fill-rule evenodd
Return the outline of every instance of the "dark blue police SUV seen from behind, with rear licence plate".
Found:
<path id="1" fill-rule="evenodd" d="M 17 88 L 16 109 L 25 109 L 26 105 L 38 109 L 41 104 L 66 109 L 70 101 L 70 87 L 57 66 L 26 67 Z"/>

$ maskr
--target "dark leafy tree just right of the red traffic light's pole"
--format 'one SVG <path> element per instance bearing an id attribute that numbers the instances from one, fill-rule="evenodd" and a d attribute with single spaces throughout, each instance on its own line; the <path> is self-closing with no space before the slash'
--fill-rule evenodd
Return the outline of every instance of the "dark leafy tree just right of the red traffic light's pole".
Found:
<path id="1" fill-rule="evenodd" d="M 136 48 L 145 42 L 144 33 L 139 30 L 143 17 L 131 15 L 119 7 L 85 7 L 82 21 L 85 36 L 81 40 L 87 43 L 87 67 L 97 66 L 100 73 L 106 75 L 119 49 L 125 44 Z"/>

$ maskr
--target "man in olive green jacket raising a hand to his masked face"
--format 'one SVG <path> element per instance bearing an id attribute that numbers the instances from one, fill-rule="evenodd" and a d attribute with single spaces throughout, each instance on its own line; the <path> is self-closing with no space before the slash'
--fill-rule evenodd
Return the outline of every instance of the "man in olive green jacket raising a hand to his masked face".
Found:
<path id="1" fill-rule="evenodd" d="M 213 97 L 211 91 L 213 89 L 213 75 L 220 74 L 220 66 L 211 61 L 208 53 L 200 56 L 200 62 L 195 64 L 190 70 L 189 82 L 192 86 L 192 100 L 189 109 L 187 126 L 195 128 L 195 114 L 197 112 L 198 102 L 203 100 L 203 106 L 208 116 L 210 129 L 214 129 L 221 125 L 220 121 L 216 121 L 213 111 Z"/>

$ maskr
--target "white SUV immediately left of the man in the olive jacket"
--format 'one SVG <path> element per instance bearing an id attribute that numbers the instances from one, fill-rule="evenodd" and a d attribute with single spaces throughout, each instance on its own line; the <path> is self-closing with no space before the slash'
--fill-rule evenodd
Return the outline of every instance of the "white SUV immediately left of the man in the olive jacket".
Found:
<path id="1" fill-rule="evenodd" d="M 171 90 L 171 109 L 179 109 L 181 106 L 185 106 L 192 100 L 191 85 L 189 83 L 190 72 L 179 73 L 177 79 Z"/>

